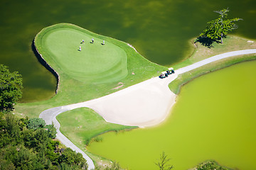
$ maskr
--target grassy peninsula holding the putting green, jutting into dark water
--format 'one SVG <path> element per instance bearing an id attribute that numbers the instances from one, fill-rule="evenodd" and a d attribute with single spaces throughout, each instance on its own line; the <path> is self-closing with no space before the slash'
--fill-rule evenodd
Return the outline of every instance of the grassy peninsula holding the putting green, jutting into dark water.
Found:
<path id="1" fill-rule="evenodd" d="M 102 45 L 103 40 L 105 45 Z M 70 23 L 43 28 L 36 35 L 34 45 L 43 60 L 58 73 L 60 81 L 58 93 L 53 98 L 35 103 L 18 103 L 15 112 L 30 118 L 38 117 L 48 108 L 112 94 L 157 77 L 167 69 L 146 60 L 126 42 L 92 33 Z"/>

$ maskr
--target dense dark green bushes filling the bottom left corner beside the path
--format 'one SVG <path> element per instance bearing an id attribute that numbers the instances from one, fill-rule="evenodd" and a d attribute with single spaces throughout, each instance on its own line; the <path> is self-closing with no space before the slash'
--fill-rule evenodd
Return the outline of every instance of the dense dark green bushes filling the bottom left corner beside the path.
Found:
<path id="1" fill-rule="evenodd" d="M 1 113 L 0 169 L 87 169 L 82 154 L 60 148 L 55 134 L 53 125 L 40 118 Z"/>

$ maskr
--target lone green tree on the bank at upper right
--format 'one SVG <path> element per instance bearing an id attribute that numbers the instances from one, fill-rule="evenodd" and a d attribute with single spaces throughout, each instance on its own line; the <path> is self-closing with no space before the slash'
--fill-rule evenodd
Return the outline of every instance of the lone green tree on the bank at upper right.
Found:
<path id="1" fill-rule="evenodd" d="M 235 21 L 240 21 L 242 18 L 225 20 L 228 16 L 228 8 L 223 8 L 223 10 L 214 12 L 220 13 L 220 16 L 217 19 L 208 22 L 208 26 L 199 36 L 201 38 L 210 38 L 213 41 L 220 40 L 223 44 L 223 37 L 227 35 L 230 30 L 238 28 L 238 26 L 235 25 Z"/>

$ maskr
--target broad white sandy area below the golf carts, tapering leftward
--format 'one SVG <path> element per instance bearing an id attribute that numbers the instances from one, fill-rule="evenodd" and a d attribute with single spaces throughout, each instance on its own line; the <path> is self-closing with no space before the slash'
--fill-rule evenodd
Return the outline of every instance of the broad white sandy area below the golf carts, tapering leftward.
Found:
<path id="1" fill-rule="evenodd" d="M 88 107 L 110 123 L 140 128 L 157 125 L 166 118 L 174 105 L 176 94 L 169 90 L 168 84 L 176 77 L 177 74 L 165 79 L 155 77 L 92 101 L 63 106 L 63 109 Z"/>

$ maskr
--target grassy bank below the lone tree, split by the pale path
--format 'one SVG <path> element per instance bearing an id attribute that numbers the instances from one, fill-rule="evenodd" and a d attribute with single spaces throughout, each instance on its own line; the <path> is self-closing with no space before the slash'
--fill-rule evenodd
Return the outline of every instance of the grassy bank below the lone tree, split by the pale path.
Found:
<path id="1" fill-rule="evenodd" d="M 194 39 L 195 40 L 195 39 Z M 191 46 L 194 47 L 194 51 L 187 60 L 176 64 L 174 69 L 179 69 L 181 67 L 186 67 L 195 62 L 199 62 L 201 60 L 205 60 L 208 57 L 213 57 L 214 55 L 220 55 L 225 52 L 231 52 L 236 50 L 247 50 L 256 48 L 256 42 L 251 42 L 245 38 L 236 37 L 233 35 L 228 36 L 224 39 L 223 44 L 215 43 L 212 48 L 208 48 L 206 46 L 201 45 L 199 42 L 193 43 L 194 40 L 191 40 Z M 190 72 L 183 73 L 178 76 L 177 79 L 169 84 L 169 89 L 174 92 L 174 94 L 178 94 L 183 84 L 186 84 L 188 81 L 195 79 L 203 74 L 213 72 L 218 69 L 222 69 L 228 67 L 233 64 L 237 64 L 239 62 L 245 62 L 250 60 L 255 60 L 256 55 L 239 55 L 235 57 L 228 57 L 224 60 L 212 62 L 210 64 L 206 64 L 203 67 L 199 67 L 197 69 L 193 69 Z M 242 70 L 241 70 L 242 71 Z"/>

